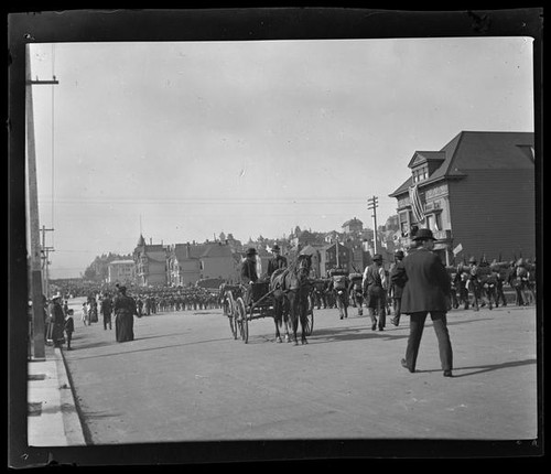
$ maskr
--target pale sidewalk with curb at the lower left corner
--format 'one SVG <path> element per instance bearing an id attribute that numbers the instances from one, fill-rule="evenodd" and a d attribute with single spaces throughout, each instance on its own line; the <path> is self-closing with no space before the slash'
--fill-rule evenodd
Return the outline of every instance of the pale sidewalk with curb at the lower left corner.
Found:
<path id="1" fill-rule="evenodd" d="M 46 345 L 45 359 L 28 367 L 29 445 L 86 445 L 62 349 Z"/>

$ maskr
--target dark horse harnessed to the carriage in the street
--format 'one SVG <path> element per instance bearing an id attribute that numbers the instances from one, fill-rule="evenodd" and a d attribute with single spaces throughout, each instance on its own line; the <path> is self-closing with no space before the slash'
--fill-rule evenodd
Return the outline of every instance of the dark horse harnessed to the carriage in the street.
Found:
<path id="1" fill-rule="evenodd" d="M 280 327 L 285 323 L 285 338 L 289 337 L 289 325 L 298 345 L 296 331 L 301 322 L 301 343 L 307 344 L 305 327 L 307 325 L 310 294 L 310 255 L 300 255 L 289 268 L 276 270 L 270 278 L 270 291 L 273 298 L 273 320 L 276 322 L 276 341 L 281 342 Z"/>

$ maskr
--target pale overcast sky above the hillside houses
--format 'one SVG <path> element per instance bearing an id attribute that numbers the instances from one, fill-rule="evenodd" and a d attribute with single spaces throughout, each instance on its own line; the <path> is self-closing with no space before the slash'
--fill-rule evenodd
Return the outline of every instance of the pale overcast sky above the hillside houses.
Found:
<path id="1" fill-rule="evenodd" d="M 52 278 L 153 243 L 372 228 L 415 150 L 533 131 L 529 37 L 31 46 Z M 53 121 L 52 121 L 53 118 Z M 53 207 L 52 207 L 53 203 Z"/>

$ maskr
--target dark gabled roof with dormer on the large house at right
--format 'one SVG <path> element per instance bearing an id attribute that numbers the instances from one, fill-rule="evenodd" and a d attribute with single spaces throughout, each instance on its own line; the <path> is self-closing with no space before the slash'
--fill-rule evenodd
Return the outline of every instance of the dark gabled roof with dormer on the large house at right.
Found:
<path id="1" fill-rule="evenodd" d="M 424 158 L 430 154 L 434 159 L 441 153 L 445 157 L 442 165 L 428 180 L 418 184 L 423 187 L 443 177 L 463 177 L 468 170 L 533 169 L 534 163 L 528 152 L 530 147 L 533 147 L 532 132 L 462 131 L 439 152 L 418 152 Z M 417 155 L 415 153 L 413 158 Z M 397 197 L 407 193 L 412 184 L 413 177 L 410 176 L 389 196 Z"/>

